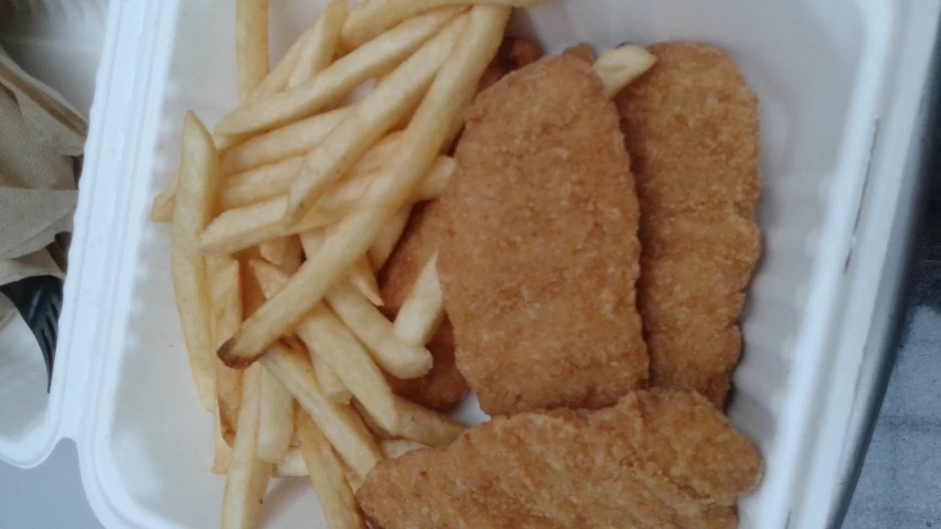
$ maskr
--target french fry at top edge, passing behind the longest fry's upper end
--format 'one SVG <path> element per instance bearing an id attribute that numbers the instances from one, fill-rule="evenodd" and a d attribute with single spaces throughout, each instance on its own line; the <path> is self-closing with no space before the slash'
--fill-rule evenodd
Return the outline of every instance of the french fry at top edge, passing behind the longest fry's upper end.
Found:
<path id="1" fill-rule="evenodd" d="M 535 6 L 542 0 L 370 0 L 356 6 L 343 24 L 344 50 L 355 50 L 389 28 L 429 9 L 455 4 L 492 4 L 511 8 Z"/>

